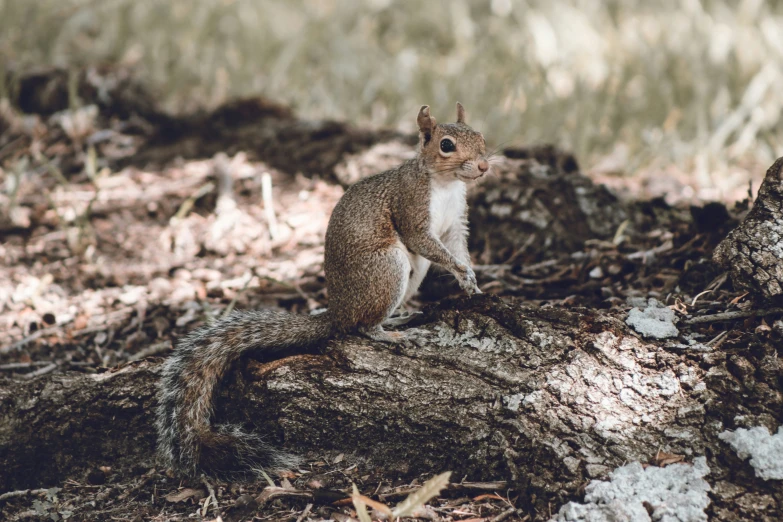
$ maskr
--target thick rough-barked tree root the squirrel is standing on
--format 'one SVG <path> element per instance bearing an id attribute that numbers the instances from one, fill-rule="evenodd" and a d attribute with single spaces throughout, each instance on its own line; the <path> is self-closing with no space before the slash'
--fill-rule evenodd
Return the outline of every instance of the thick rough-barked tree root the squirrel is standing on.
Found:
<path id="1" fill-rule="evenodd" d="M 251 424 L 300 454 L 345 452 L 391 476 L 505 478 L 536 520 L 623 463 L 706 455 L 716 520 L 731 520 L 743 496 L 748 516 L 783 516 L 780 484 L 756 479 L 718 439 L 783 420 L 779 341 L 741 335 L 720 351 L 691 350 L 642 341 L 611 314 L 486 295 L 447 300 L 419 322 L 426 333 L 401 345 L 346 337 L 323 354 L 242 364 L 216 420 Z M 158 368 L 2 388 L 0 489 L 150 465 Z"/>

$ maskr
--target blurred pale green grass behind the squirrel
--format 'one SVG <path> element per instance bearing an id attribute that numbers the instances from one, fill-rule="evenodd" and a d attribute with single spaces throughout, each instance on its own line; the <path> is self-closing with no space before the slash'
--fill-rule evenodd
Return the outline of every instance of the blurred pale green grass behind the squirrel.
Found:
<path id="1" fill-rule="evenodd" d="M 492 144 L 673 199 L 740 199 L 783 155 L 779 1 L 0 0 L 0 67 L 96 63 L 172 112 L 260 94 L 413 131 L 459 100 Z"/>

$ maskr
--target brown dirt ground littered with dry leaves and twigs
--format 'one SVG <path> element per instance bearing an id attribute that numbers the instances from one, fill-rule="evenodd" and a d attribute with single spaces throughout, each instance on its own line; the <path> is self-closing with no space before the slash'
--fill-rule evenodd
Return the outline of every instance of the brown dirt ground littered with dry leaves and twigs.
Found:
<path id="1" fill-rule="evenodd" d="M 175 119 L 118 72 L 85 73 L 74 110 L 61 72 L 26 82 L 14 103 L 0 105 L 0 386 L 9 393 L 44 375 L 164 357 L 180 336 L 233 308 L 326 306 L 331 209 L 345 184 L 394 165 L 414 141 L 298 120 L 266 100 Z M 511 150 L 503 161 L 578 169 L 553 149 Z M 486 183 L 502 179 L 501 167 Z M 485 194 L 473 201 L 490 208 Z M 493 239 L 491 212 L 472 215 L 486 232 L 471 240 L 484 292 L 607 311 L 627 310 L 629 297 L 654 297 L 682 314 L 753 306 L 708 262 L 747 201 L 730 209 L 671 207 L 663 198 L 610 203 L 625 214 L 604 237 L 564 230 L 563 240 L 520 239 L 510 250 Z M 453 294 L 434 275 L 412 306 Z M 772 321 L 756 317 L 693 328 L 726 347 L 775 335 Z M 278 489 L 210 483 L 222 519 L 347 520 L 356 516 L 344 495 L 352 483 L 393 505 L 427 478 L 390 477 L 340 453 L 308 457 L 302 469 L 270 477 Z M 528 519 L 506 483 L 460 479 L 421 518 Z M 5 520 L 211 520 L 217 513 L 206 483 L 179 480 L 152 461 L 131 473 L 107 462 L 4 497 Z"/>

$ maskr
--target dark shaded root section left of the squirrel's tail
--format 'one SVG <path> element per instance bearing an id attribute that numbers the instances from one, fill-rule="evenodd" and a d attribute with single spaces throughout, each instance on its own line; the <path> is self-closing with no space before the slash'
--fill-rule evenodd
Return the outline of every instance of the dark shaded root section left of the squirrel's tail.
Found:
<path id="1" fill-rule="evenodd" d="M 151 463 L 158 365 L 0 382 L 0 491 Z M 37 487 L 37 486 L 36 486 Z"/>

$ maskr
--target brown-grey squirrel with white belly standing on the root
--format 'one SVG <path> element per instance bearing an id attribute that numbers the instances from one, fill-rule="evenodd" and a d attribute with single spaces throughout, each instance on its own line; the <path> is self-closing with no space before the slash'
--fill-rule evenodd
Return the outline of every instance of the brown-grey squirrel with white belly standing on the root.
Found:
<path id="1" fill-rule="evenodd" d="M 212 425 L 217 388 L 235 361 L 349 333 L 401 341 L 404 332 L 387 332 L 383 324 L 418 290 L 431 263 L 451 272 L 469 295 L 481 293 L 467 248 L 465 182 L 490 168 L 484 136 L 465 124 L 459 103 L 456 123 L 437 123 L 427 105 L 416 121 L 417 156 L 348 188 L 329 219 L 325 312 L 234 311 L 178 343 L 158 390 L 158 449 L 167 465 L 218 476 L 295 467 L 298 457 L 261 436 Z"/>

